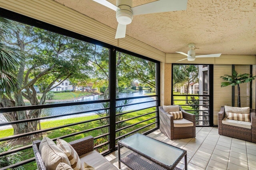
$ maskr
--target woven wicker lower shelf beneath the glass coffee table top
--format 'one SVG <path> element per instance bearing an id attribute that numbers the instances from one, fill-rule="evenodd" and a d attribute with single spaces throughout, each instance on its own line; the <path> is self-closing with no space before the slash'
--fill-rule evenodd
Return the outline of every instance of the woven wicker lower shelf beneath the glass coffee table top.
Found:
<path id="1" fill-rule="evenodd" d="M 120 162 L 124 163 L 126 166 L 132 170 L 166 170 L 165 168 L 155 164 L 154 162 L 132 152 L 126 157 L 120 159 Z M 175 167 L 174 170 L 181 170 L 180 168 Z"/>

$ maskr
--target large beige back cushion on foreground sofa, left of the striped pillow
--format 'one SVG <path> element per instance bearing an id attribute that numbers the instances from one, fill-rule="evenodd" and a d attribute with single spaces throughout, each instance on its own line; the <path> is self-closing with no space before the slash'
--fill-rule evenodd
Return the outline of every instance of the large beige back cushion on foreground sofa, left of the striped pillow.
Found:
<path id="1" fill-rule="evenodd" d="M 70 166 L 68 156 L 48 137 L 42 139 L 39 145 L 39 153 L 47 170 L 56 170 L 60 162 L 64 162 Z"/>

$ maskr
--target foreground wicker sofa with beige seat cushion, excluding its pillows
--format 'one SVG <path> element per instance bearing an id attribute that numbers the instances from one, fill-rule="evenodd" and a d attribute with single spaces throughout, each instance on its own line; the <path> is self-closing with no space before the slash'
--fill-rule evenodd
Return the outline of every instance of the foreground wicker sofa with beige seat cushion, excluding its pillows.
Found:
<path id="1" fill-rule="evenodd" d="M 46 170 L 46 166 L 39 152 L 40 140 L 33 141 L 33 150 L 36 158 L 38 170 Z M 94 150 L 94 138 L 92 136 L 84 137 L 69 143 L 79 155 L 80 161 L 86 162 L 96 170 L 117 170 L 104 156 Z"/>

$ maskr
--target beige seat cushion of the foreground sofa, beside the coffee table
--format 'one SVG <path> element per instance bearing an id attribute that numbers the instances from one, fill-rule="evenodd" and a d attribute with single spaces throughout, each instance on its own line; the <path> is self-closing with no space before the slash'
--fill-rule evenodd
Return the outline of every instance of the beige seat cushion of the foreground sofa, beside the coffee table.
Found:
<path id="1" fill-rule="evenodd" d="M 117 170 L 117 168 L 111 164 L 106 158 L 99 154 L 96 150 L 88 152 L 80 156 L 82 164 L 86 162 L 96 170 Z"/>

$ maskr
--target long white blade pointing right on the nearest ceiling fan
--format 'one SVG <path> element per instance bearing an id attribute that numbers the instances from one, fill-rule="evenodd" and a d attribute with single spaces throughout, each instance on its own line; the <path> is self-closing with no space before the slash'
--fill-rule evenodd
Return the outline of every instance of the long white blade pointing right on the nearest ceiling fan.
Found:
<path id="1" fill-rule="evenodd" d="M 158 0 L 148 4 L 132 7 L 133 15 L 151 14 L 157 12 L 180 11 L 187 9 L 188 0 Z"/>

